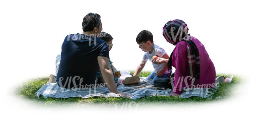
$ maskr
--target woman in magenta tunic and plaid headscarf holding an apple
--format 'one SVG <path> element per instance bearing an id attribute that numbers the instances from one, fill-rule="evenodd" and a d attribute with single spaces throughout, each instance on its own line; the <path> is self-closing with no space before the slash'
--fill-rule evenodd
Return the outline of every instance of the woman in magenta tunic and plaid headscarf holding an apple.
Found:
<path id="1" fill-rule="evenodd" d="M 182 20 L 172 20 L 163 27 L 163 36 L 167 42 L 176 45 L 169 60 L 158 58 L 156 64 L 168 63 L 168 68 L 175 67 L 173 77 L 173 95 L 180 95 L 182 88 L 215 86 L 216 72 L 213 62 L 204 45 L 197 38 L 190 36 L 187 24 Z"/>

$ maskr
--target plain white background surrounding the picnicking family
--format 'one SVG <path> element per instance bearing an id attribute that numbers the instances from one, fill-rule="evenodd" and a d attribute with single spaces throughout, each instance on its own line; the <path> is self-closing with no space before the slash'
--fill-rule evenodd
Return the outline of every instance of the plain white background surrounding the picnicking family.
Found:
<path id="1" fill-rule="evenodd" d="M 44 119 L 44 115 L 59 118 L 63 113 L 65 118 L 73 118 L 71 113 L 97 117 L 105 112 L 115 113 L 112 118 L 128 113 L 137 117 L 163 115 L 190 119 L 191 116 L 204 119 L 251 116 L 255 109 L 254 7 L 255 4 L 247 0 L 1 1 L 0 104 L 4 112 L 1 117 Z M 234 97 L 225 101 L 189 107 L 160 105 L 137 113 L 131 113 L 133 110 L 117 113 L 95 107 L 43 108 L 15 97 L 13 91 L 17 85 L 30 78 L 55 74 L 55 58 L 61 53 L 65 36 L 82 33 L 82 19 L 90 12 L 101 16 L 103 31 L 114 38 L 109 54 L 117 69 L 135 70 L 142 60 L 144 52 L 136 43 L 136 36 L 142 30 L 151 31 L 154 43 L 170 55 L 175 46 L 166 42 L 162 27 L 169 20 L 181 19 L 188 25 L 189 33 L 204 44 L 217 73 L 240 75 L 245 82 L 239 89 L 235 88 Z M 152 71 L 152 63 L 148 61 L 144 70 Z"/>

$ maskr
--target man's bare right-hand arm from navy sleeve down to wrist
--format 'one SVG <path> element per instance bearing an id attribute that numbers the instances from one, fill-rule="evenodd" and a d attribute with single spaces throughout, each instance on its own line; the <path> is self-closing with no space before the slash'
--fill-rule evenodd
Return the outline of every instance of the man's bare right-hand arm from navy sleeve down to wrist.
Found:
<path id="1" fill-rule="evenodd" d="M 117 87 L 115 86 L 112 69 L 109 65 L 109 59 L 107 57 L 98 56 L 98 64 L 100 66 L 100 72 L 102 74 L 102 77 L 104 78 L 104 81 L 108 86 L 108 89 L 112 93 L 118 94 Z"/>

